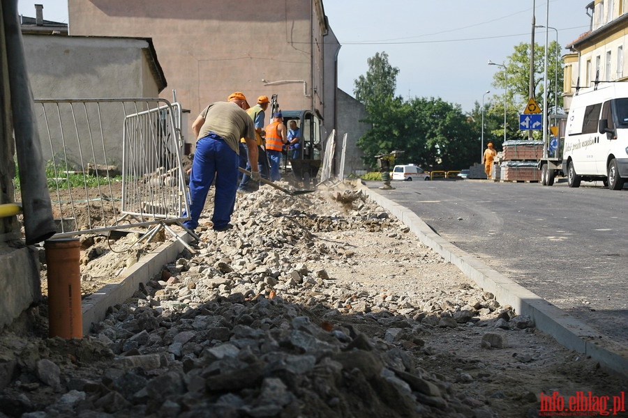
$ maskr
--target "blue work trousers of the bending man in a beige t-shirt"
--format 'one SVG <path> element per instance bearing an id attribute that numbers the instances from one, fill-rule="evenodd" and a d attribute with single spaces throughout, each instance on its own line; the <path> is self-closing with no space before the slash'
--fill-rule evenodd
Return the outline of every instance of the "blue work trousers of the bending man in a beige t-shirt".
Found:
<path id="1" fill-rule="evenodd" d="M 197 141 L 190 173 L 190 220 L 184 222 L 184 226 L 189 229 L 198 226 L 214 178 L 216 193 L 211 222 L 214 229 L 230 222 L 238 187 L 238 162 L 238 154 L 214 132 Z"/>

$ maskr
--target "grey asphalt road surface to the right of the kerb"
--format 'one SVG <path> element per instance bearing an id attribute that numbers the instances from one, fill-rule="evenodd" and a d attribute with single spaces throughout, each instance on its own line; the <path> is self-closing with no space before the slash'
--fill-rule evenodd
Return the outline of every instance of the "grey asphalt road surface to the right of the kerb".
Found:
<path id="1" fill-rule="evenodd" d="M 493 270 L 628 346 L 627 188 L 583 182 L 571 189 L 560 180 L 551 187 L 470 179 L 392 185 L 377 193 Z"/>

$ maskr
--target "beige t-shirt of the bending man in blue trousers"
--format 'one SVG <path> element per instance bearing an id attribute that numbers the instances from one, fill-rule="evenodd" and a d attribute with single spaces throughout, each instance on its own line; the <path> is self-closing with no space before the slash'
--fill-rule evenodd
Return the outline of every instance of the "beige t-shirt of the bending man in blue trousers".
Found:
<path id="1" fill-rule="evenodd" d="M 239 154 L 240 138 L 255 139 L 255 126 L 251 116 L 232 102 L 214 102 L 209 104 L 200 113 L 204 118 L 198 138 L 207 137 L 209 132 L 214 132 L 223 137 L 227 144 Z"/>

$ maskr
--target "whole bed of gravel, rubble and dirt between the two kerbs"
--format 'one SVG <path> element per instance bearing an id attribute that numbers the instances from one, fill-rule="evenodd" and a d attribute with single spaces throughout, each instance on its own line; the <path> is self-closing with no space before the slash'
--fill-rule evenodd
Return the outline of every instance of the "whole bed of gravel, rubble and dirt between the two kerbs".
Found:
<path id="1" fill-rule="evenodd" d="M 261 187 L 220 233 L 212 204 L 196 253 L 89 336 L 46 338 L 45 303 L 0 334 L 0 417 L 538 417 L 541 393 L 626 387 L 359 190 Z"/>

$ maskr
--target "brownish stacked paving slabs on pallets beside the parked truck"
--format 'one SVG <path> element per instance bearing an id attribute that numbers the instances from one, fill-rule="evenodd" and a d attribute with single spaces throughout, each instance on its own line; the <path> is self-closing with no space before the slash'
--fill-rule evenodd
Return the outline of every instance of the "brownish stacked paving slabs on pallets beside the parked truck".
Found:
<path id="1" fill-rule="evenodd" d="M 543 141 L 505 141 L 502 144 L 500 180 L 536 182 L 541 178 L 538 161 L 543 157 Z"/>

